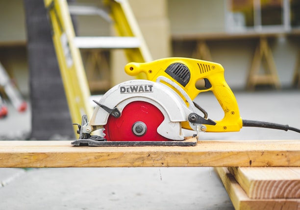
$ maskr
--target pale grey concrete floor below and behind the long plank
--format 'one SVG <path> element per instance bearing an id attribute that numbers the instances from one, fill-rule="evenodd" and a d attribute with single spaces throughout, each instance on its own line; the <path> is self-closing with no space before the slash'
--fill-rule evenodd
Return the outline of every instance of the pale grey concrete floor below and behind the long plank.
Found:
<path id="1" fill-rule="evenodd" d="M 241 117 L 300 128 L 300 91 L 235 93 Z M 223 111 L 212 94 L 197 99 L 211 119 Z M 1 140 L 30 132 L 30 110 L 0 120 Z M 300 140 L 296 132 L 243 128 L 200 140 Z M 233 210 L 213 168 L 0 168 L 1 210 Z"/>

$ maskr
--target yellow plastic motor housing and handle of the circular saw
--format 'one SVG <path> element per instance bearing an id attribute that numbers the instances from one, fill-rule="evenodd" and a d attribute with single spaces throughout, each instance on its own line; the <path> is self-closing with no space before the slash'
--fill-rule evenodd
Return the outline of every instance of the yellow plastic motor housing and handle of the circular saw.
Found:
<path id="1" fill-rule="evenodd" d="M 190 70 L 190 79 L 184 86 L 165 71 L 174 63 L 184 64 Z M 206 125 L 206 132 L 231 132 L 239 131 L 242 128 L 242 118 L 240 117 L 238 104 L 234 94 L 225 81 L 224 68 L 221 64 L 192 58 L 173 57 L 148 63 L 128 63 L 125 66 L 125 72 L 131 76 L 145 73 L 147 79 L 151 81 L 156 81 L 159 76 L 165 76 L 176 82 L 192 100 L 201 92 L 212 91 L 224 111 L 224 117 L 219 121 L 214 120 L 217 123 L 216 125 Z M 208 79 L 211 87 L 207 89 L 197 88 L 197 82 L 202 79 Z M 178 93 L 175 88 L 173 88 L 173 90 Z M 186 101 L 180 93 L 178 94 Z M 186 104 L 189 106 L 187 101 Z M 188 122 L 182 123 L 182 127 L 191 129 Z"/>

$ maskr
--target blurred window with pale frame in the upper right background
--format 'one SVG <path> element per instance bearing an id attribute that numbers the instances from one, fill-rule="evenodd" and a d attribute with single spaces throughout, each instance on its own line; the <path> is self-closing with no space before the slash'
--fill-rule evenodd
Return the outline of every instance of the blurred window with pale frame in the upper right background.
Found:
<path id="1" fill-rule="evenodd" d="M 300 26 L 299 9 L 300 0 L 227 0 L 226 29 L 289 31 L 291 26 Z"/>

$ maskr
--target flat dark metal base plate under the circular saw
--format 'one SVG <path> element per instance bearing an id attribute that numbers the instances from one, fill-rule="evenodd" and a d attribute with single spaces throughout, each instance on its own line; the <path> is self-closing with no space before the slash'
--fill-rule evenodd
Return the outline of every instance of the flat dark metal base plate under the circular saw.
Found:
<path id="1" fill-rule="evenodd" d="M 73 141 L 74 146 L 196 146 L 197 138 L 186 138 L 182 141 L 107 141 L 93 139 L 79 139 Z"/>

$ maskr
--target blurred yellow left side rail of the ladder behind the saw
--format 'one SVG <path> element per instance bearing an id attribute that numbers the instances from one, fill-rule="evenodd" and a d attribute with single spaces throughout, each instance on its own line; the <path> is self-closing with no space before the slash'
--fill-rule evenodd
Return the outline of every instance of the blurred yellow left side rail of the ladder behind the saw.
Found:
<path id="1" fill-rule="evenodd" d="M 66 0 L 44 0 L 52 26 L 52 39 L 66 92 L 72 121 L 81 122 L 81 116 L 92 115 L 88 102 L 90 91 L 79 49 L 73 39 L 75 32 Z M 76 134 L 77 128 L 74 126 Z"/>

